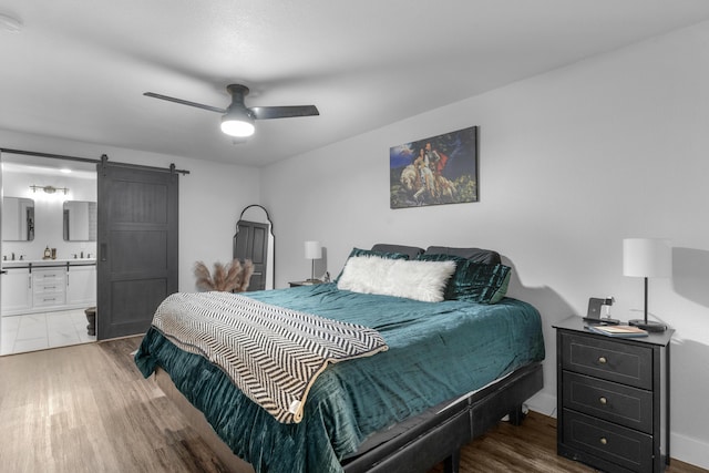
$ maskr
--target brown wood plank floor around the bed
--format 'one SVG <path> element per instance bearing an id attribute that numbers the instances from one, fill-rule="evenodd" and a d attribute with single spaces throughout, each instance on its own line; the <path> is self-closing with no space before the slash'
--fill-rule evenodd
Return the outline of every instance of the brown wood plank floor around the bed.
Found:
<path id="1" fill-rule="evenodd" d="M 131 352 L 140 338 L 0 357 L 3 472 L 225 472 Z M 555 419 L 501 422 L 462 451 L 461 470 L 593 472 L 556 455 Z M 442 472 L 442 465 L 430 473 Z M 706 470 L 672 460 L 669 473 Z"/>

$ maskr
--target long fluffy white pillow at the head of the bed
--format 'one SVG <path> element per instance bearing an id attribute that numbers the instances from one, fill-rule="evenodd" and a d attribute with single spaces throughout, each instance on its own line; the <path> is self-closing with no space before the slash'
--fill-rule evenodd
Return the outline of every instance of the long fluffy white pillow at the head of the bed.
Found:
<path id="1" fill-rule="evenodd" d="M 353 292 L 440 302 L 443 300 L 445 284 L 454 271 L 455 261 L 353 256 L 347 260 L 337 287 Z"/>

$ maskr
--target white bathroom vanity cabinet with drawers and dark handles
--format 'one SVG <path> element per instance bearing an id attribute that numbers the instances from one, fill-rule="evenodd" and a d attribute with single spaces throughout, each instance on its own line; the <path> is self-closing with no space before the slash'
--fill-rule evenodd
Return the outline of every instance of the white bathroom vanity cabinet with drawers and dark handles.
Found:
<path id="1" fill-rule="evenodd" d="M 93 258 L 2 261 L 2 316 L 96 305 Z"/>

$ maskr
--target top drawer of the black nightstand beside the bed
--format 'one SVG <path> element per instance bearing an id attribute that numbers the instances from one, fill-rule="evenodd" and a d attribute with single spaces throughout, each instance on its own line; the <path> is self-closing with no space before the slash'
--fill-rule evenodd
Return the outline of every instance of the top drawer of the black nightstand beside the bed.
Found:
<path id="1" fill-rule="evenodd" d="M 563 368 L 653 389 L 653 351 L 649 347 L 605 340 L 604 337 L 562 335 Z"/>

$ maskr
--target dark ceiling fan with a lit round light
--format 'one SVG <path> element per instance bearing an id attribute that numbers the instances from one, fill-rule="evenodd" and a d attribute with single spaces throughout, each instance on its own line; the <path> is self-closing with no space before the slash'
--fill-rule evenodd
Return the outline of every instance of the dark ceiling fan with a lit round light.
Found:
<path id="1" fill-rule="evenodd" d="M 315 105 L 247 107 L 244 103 L 244 97 L 248 95 L 248 88 L 246 85 L 230 84 L 226 86 L 226 90 L 232 95 L 232 104 L 226 109 L 189 102 L 154 92 L 145 92 L 143 95 L 222 113 L 222 131 L 229 136 L 237 137 L 251 136 L 256 131 L 254 126 L 255 120 L 289 119 L 294 116 L 312 116 L 320 114 Z"/>

